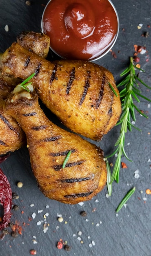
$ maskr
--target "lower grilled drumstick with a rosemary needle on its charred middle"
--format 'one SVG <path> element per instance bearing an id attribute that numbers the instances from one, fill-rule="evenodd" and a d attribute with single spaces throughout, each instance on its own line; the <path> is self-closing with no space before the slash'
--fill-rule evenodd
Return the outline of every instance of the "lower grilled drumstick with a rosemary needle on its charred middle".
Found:
<path id="1" fill-rule="evenodd" d="M 29 92 L 15 94 L 5 105 L 27 136 L 31 167 L 40 190 L 67 204 L 90 200 L 107 181 L 100 148 L 53 124 Z M 67 153 L 71 155 L 62 168 Z"/>

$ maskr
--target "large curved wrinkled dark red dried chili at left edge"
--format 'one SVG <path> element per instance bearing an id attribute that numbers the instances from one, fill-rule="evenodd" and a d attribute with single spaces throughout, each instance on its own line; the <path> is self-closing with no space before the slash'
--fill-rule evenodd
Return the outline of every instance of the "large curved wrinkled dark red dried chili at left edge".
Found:
<path id="1" fill-rule="evenodd" d="M 4 229 L 11 218 L 12 191 L 7 177 L 0 169 L 0 203 L 4 209 L 2 222 L 0 222 L 0 230 Z"/>

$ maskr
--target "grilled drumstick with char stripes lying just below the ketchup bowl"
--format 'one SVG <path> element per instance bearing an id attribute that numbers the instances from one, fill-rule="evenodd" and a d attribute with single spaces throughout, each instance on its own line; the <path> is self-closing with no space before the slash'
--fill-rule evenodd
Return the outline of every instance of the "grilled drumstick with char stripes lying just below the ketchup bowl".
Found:
<path id="1" fill-rule="evenodd" d="M 1 60 L 3 72 L 32 79 L 40 99 L 72 131 L 99 140 L 121 114 L 118 89 L 111 72 L 87 61 L 44 60 L 13 43 Z M 114 88 L 118 97 L 111 90 Z"/>

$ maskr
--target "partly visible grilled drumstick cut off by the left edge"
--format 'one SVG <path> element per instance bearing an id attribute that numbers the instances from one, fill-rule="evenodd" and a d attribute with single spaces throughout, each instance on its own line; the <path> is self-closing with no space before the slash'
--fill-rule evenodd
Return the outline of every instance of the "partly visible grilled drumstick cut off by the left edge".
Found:
<path id="1" fill-rule="evenodd" d="M 10 92 L 11 88 L 0 79 L 0 155 L 21 148 L 26 141 L 25 134 L 16 120 L 3 111 L 4 99 Z"/>

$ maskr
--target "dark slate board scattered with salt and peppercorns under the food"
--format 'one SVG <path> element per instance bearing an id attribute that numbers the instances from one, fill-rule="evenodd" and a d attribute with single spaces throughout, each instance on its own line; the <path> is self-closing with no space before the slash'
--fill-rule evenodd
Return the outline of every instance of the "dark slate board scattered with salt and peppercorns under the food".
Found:
<path id="1" fill-rule="evenodd" d="M 20 32 L 40 32 L 42 12 L 47 2 L 31 0 L 31 5 L 27 6 L 25 0 L 0 0 L 0 52 L 4 52 Z M 108 68 L 118 82 L 119 74 L 127 67 L 129 57 L 133 56 L 133 45 L 146 45 L 148 52 L 140 55 L 141 67 L 146 73 L 140 75 L 144 82 L 151 85 L 151 36 L 141 36 L 144 32 L 151 34 L 151 1 L 114 0 L 113 3 L 120 19 L 118 40 L 112 49 L 117 58 L 109 52 L 95 63 Z M 138 29 L 139 23 L 143 24 L 141 29 Z M 9 26 L 8 32 L 4 30 L 5 25 Z M 52 57 L 50 54 L 49 58 L 51 60 L 56 56 Z M 141 88 L 143 94 L 151 99 L 151 91 L 143 86 Z M 133 162 L 122 158 L 128 168 L 121 168 L 120 183 L 113 183 L 110 198 L 106 197 L 106 187 L 93 200 L 84 202 L 82 206 L 66 205 L 44 197 L 33 177 L 26 147 L 11 153 L 10 157 L 0 164 L 12 191 L 19 195 L 19 199 L 13 200 L 13 203 L 20 208 L 18 211 L 12 211 L 11 221 L 14 223 L 17 220 L 23 227 L 22 235 L 17 238 L 9 234 L 0 240 L 0 255 L 27 256 L 30 255 L 31 249 L 35 249 L 39 256 L 151 256 L 151 195 L 145 193 L 147 188 L 151 189 L 151 108 L 148 104 L 147 101 L 141 100 L 137 105 L 147 112 L 149 119 L 137 113 L 136 126 L 142 129 L 142 132 L 127 132 L 125 150 Z M 49 112 L 47 115 L 49 116 Z M 58 123 L 55 117 L 53 119 Z M 113 128 L 101 142 L 96 143 L 101 146 L 105 155 L 113 152 L 119 129 L 120 127 Z M 113 157 L 111 161 L 114 160 Z M 136 170 L 139 170 L 138 179 L 134 177 Z M 16 186 L 18 181 L 23 182 L 21 189 Z M 116 216 L 116 207 L 133 186 L 136 187 L 134 195 L 127 202 L 127 207 L 123 207 Z M 143 198 L 147 198 L 146 203 Z M 34 206 L 31 207 L 31 204 Z M 38 213 L 38 210 L 43 211 Z M 81 211 L 86 211 L 87 216 L 82 217 Z M 31 217 L 33 212 L 36 213 L 35 219 Z M 46 233 L 43 232 L 44 222 L 37 225 L 38 221 L 44 221 L 45 213 L 49 213 L 49 216 L 46 216 L 46 222 L 49 224 Z M 61 223 L 58 222 L 58 214 L 62 214 L 64 219 Z M 79 231 L 82 234 L 78 234 Z M 81 241 L 78 240 L 80 238 Z M 60 239 L 67 241 L 71 246 L 70 252 L 57 249 L 56 244 Z M 33 240 L 37 243 L 33 243 Z"/>

